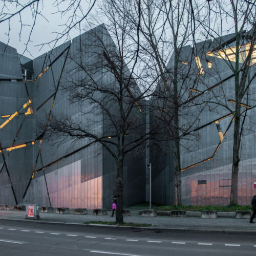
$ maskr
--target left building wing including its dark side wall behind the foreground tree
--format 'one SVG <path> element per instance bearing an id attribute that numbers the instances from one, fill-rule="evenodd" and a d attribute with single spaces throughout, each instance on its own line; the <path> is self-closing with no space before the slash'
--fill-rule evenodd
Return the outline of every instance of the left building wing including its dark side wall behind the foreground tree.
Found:
<path id="1" fill-rule="evenodd" d="M 113 41 L 103 25 L 31 60 L 0 43 L 0 202 L 88 209 L 109 208 L 116 194 L 116 165 L 100 143 L 71 137 L 46 138 L 49 120 L 71 117 L 90 121 L 104 136 L 104 114 L 93 105 L 70 101 L 68 90 L 79 61 L 97 67 L 103 45 Z M 108 87 L 110 75 L 98 68 L 92 79 Z M 131 174 L 130 169 L 135 172 Z M 124 163 L 124 205 L 145 201 L 143 155 L 130 153 Z"/>

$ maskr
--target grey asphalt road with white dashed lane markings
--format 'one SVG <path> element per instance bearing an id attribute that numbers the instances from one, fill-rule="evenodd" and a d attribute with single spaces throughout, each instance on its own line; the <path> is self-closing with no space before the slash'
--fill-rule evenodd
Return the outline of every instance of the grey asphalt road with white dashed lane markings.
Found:
<path id="1" fill-rule="evenodd" d="M 256 235 L 0 220 L 0 255 L 256 255 Z"/>

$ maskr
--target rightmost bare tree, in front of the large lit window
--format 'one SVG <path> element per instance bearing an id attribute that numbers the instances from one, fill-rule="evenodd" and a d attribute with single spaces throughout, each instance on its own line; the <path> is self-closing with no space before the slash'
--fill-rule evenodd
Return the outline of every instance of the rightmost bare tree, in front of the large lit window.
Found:
<path id="1" fill-rule="evenodd" d="M 250 68 L 255 63 L 256 7 L 255 1 L 230 0 L 209 3 L 209 19 L 202 23 L 207 35 L 214 39 L 215 48 L 207 55 L 221 59 L 233 79 L 232 89 L 228 92 L 220 78 L 218 94 L 211 91 L 214 98 L 209 102 L 226 109 L 233 116 L 233 148 L 230 204 L 238 204 L 238 174 L 241 153 L 241 140 L 245 129 L 247 112 L 254 108 L 248 106 L 251 100 L 251 86 L 255 70 Z M 211 16 L 210 16 L 211 15 Z M 217 20 L 218 22 L 212 22 Z M 228 22 L 228 28 L 225 24 Z M 230 26 L 231 25 L 231 26 Z M 230 34 L 231 33 L 231 34 Z M 226 36 L 229 34 L 228 36 Z M 227 80 L 227 79 L 224 79 Z M 230 95 L 232 99 L 228 98 Z M 249 97 L 249 98 L 248 98 Z M 230 103 L 231 102 L 231 103 Z"/>

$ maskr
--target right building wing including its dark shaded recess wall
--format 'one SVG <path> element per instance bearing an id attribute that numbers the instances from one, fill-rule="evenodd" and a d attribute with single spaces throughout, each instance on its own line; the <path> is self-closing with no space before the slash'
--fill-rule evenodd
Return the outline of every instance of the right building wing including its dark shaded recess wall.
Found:
<path id="1" fill-rule="evenodd" d="M 248 33 L 249 34 L 249 33 Z M 250 40 L 240 46 L 240 68 L 248 54 Z M 234 65 L 236 36 L 234 34 L 199 42 L 195 48 L 186 46 L 179 59 L 181 81 L 180 89 L 180 127 L 187 129 L 181 137 L 181 194 L 184 205 L 228 205 L 230 202 L 233 115 L 234 111 Z M 230 60 L 230 65 L 228 62 Z M 191 60 L 191 62 L 189 62 Z M 170 59 L 168 68 L 172 72 L 174 59 Z M 244 120 L 240 148 L 238 203 L 249 205 L 256 193 L 256 47 L 254 47 L 248 80 L 249 90 L 241 103 L 241 123 Z M 181 73 L 183 72 L 183 73 Z M 242 72 L 241 72 L 242 73 Z M 182 77 L 187 77 L 183 80 Z M 246 114 L 246 118 L 244 116 Z M 194 119 L 193 119 L 194 118 Z M 172 146 L 169 147 L 172 150 Z M 154 164 L 153 184 L 160 195 L 155 202 L 164 204 L 173 202 L 174 187 L 169 181 L 173 174 L 173 155 L 164 150 L 151 148 Z M 160 160 L 161 159 L 161 160 Z M 161 162 L 159 164 L 159 161 Z M 167 167 L 167 168 L 166 168 Z M 164 189 L 169 187 L 170 190 Z"/>

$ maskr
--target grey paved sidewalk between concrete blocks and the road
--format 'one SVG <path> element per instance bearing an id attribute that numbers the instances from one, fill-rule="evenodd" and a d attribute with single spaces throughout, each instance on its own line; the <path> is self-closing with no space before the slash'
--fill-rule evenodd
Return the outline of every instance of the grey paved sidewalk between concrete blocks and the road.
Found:
<path id="1" fill-rule="evenodd" d="M 62 223 L 62 224 L 83 224 L 88 221 L 115 221 L 111 218 L 111 211 L 108 216 L 94 216 L 92 210 L 87 215 L 56 214 L 40 212 L 39 220 L 25 219 L 25 211 L 0 210 L 0 219 L 33 221 L 41 223 Z M 255 220 L 256 221 L 256 220 Z M 256 234 L 256 223 L 249 223 L 248 219 L 217 218 L 201 219 L 198 217 L 170 218 L 167 216 L 141 217 L 138 210 L 131 210 L 131 216 L 124 217 L 124 222 L 152 224 L 154 229 L 168 229 L 181 231 L 206 231 L 225 233 L 251 233 Z"/>

